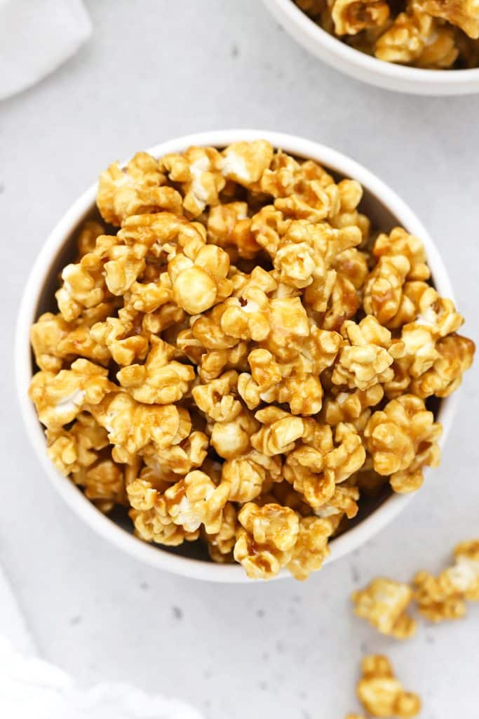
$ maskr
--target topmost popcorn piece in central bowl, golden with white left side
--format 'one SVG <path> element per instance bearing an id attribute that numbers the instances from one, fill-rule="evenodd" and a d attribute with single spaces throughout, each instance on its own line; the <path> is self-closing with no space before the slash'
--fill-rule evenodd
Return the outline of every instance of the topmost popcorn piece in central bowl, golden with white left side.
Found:
<path id="1" fill-rule="evenodd" d="M 253 142 L 233 142 L 223 150 L 222 154 L 223 176 L 243 187 L 251 187 L 269 168 L 273 148 L 266 140 L 257 139 Z"/>

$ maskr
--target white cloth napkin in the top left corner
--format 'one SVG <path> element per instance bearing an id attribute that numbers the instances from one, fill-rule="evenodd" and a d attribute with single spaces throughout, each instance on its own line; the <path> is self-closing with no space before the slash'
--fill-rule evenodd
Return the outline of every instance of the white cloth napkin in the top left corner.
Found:
<path id="1" fill-rule="evenodd" d="M 90 33 L 81 0 L 0 0 L 0 100 L 51 73 Z"/>

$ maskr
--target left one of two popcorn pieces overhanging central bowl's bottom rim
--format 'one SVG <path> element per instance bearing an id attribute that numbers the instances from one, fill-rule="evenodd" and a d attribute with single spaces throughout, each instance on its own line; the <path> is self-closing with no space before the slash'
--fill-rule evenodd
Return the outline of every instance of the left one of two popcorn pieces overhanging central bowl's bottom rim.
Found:
<path id="1" fill-rule="evenodd" d="M 234 558 L 251 579 L 269 579 L 292 559 L 299 533 L 297 514 L 278 504 L 243 505 L 238 513 Z"/>

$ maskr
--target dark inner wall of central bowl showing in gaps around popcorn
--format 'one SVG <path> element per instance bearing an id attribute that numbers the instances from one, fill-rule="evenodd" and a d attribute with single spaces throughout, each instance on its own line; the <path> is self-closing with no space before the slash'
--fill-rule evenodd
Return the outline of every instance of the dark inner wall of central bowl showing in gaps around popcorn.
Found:
<path id="1" fill-rule="evenodd" d="M 288 147 L 284 147 L 284 150 L 288 151 Z M 295 152 L 294 154 L 297 157 L 301 157 L 300 155 L 298 155 L 297 152 Z M 304 159 L 307 159 L 307 157 L 308 156 L 305 156 Z M 332 175 L 335 176 L 336 180 L 340 180 L 347 176 L 343 173 L 338 172 L 335 167 L 330 167 L 325 163 L 322 164 L 325 168 L 327 168 L 327 170 L 330 170 Z M 360 209 L 371 219 L 373 227 L 376 229 L 381 229 L 381 231 L 389 232 L 394 226 L 396 226 L 397 224 L 403 224 L 404 222 L 401 222 L 401 219 L 399 219 L 398 216 L 396 216 L 396 214 L 394 214 L 391 209 L 386 206 L 386 204 L 381 200 L 381 198 L 378 198 L 378 196 L 376 196 L 373 191 L 366 187 L 364 188 L 364 195 L 361 201 Z M 93 202 L 90 202 L 85 211 L 83 211 L 83 214 L 81 214 L 77 218 L 75 224 L 70 228 L 69 232 L 65 234 L 65 239 L 62 244 L 57 247 L 57 251 L 54 255 L 52 255 L 50 265 L 48 266 L 47 270 L 45 270 L 45 279 L 43 280 L 42 285 L 39 288 L 39 293 L 37 296 L 38 299 L 34 308 L 35 318 L 37 318 L 43 312 L 57 312 L 54 295 L 55 290 L 57 290 L 58 288 L 58 278 L 60 276 L 62 267 L 64 267 L 66 264 L 68 264 L 68 262 L 73 260 L 73 256 L 75 254 L 75 239 L 77 237 L 80 226 L 86 219 L 101 219 L 98 214 L 98 210 L 96 209 L 96 206 Z M 107 228 L 107 232 L 111 232 L 111 234 L 114 234 L 114 232 L 116 232 L 116 229 L 110 227 Z M 34 363 L 34 358 L 32 355 L 30 362 L 30 372 L 36 372 L 38 368 Z M 434 410 L 435 414 L 437 414 L 440 411 L 440 402 L 436 401 L 435 403 L 431 404 L 432 406 L 430 408 Z M 52 471 L 56 470 L 52 467 Z M 70 482 L 68 478 L 64 477 L 62 477 L 61 480 L 62 482 Z M 79 495 L 82 495 L 81 498 L 83 501 L 88 502 L 88 500 L 83 497 L 83 494 L 81 493 L 81 490 L 79 488 L 75 487 L 75 490 L 78 492 Z M 343 532 L 343 536 L 350 533 L 350 531 L 352 531 L 355 527 L 358 527 L 358 525 L 363 523 L 366 518 L 371 517 L 373 513 L 376 513 L 378 508 L 380 508 L 381 505 L 383 505 L 389 498 L 391 498 L 391 490 L 389 490 L 389 485 L 387 484 L 385 485 L 385 487 L 383 487 L 383 490 L 378 493 L 378 495 L 369 498 L 361 498 L 360 510 L 358 512 L 358 515 L 352 521 L 348 522 L 347 528 L 345 528 L 345 531 Z M 399 499 L 403 498 L 399 498 L 397 495 L 395 495 L 394 498 L 391 498 L 391 501 Z M 127 514 L 126 508 L 117 506 L 110 514 L 108 514 L 108 518 L 113 523 L 116 523 L 116 525 L 123 531 L 131 535 L 133 534 L 133 526 Z M 341 534 L 339 534 L 337 538 L 332 539 L 331 546 L 333 546 L 335 542 L 338 542 L 340 536 Z M 205 546 L 200 543 L 200 541 L 185 542 L 179 547 L 154 545 L 154 549 L 159 552 L 168 552 L 169 554 L 175 554 L 179 557 L 188 557 L 190 559 L 196 559 L 202 562 L 210 563 L 208 552 L 206 551 Z M 237 569 L 240 568 L 237 567 Z"/>

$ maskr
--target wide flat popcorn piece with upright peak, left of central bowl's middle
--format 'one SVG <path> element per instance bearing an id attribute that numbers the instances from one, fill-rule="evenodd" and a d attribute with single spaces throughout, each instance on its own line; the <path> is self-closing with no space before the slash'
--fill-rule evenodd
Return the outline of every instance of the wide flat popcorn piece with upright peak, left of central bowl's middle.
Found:
<path id="1" fill-rule="evenodd" d="M 182 365 L 173 357 L 175 347 L 152 336 L 144 365 L 123 367 L 116 373 L 116 378 L 137 402 L 178 402 L 190 389 L 195 379 L 195 370 L 191 365 Z"/>

